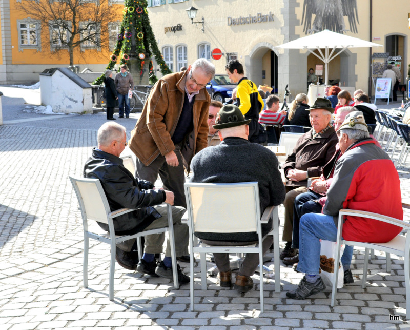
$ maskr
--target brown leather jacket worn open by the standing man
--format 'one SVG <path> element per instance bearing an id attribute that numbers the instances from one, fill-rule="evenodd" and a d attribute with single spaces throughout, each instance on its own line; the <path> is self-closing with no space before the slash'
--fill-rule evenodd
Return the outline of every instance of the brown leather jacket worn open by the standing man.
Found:
<path id="1" fill-rule="evenodd" d="M 159 79 L 151 89 L 141 117 L 131 131 L 130 149 L 138 159 L 148 166 L 159 155 L 165 156 L 175 149 L 171 140 L 178 124 L 185 98 L 185 78 L 187 71 L 171 73 Z M 202 88 L 195 96 L 194 153 L 207 147 L 208 111 L 211 97 Z"/>

